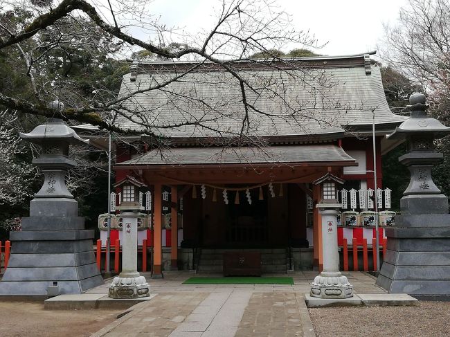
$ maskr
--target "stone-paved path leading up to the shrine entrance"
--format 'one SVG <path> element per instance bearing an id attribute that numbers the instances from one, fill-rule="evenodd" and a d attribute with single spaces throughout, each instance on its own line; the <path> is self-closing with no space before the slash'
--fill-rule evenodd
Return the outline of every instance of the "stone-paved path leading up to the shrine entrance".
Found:
<path id="1" fill-rule="evenodd" d="M 344 274 L 356 293 L 386 293 L 367 273 Z M 169 272 L 155 280 L 143 275 L 157 295 L 92 336 L 314 336 L 303 294 L 309 292 L 315 271 L 273 275 L 293 277 L 293 285 L 184 285 L 195 274 Z M 89 293 L 105 293 L 108 286 L 105 282 Z"/>

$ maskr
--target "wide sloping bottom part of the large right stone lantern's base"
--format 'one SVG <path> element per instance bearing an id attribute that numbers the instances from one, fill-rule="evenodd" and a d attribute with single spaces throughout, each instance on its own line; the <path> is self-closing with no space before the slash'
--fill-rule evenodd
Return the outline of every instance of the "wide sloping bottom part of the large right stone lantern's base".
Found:
<path id="1" fill-rule="evenodd" d="M 448 215 L 442 215 L 448 219 Z M 402 221 L 417 224 L 414 215 Z M 431 215 L 432 219 L 439 218 Z M 422 215 L 419 220 L 426 221 Z M 389 293 L 450 295 L 450 226 L 386 228 L 388 251 L 377 285 Z"/>

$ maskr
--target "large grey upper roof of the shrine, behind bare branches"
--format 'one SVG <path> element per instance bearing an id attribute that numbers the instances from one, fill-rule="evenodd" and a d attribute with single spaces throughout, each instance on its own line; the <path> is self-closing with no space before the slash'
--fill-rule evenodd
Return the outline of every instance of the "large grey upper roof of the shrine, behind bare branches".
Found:
<path id="1" fill-rule="evenodd" d="M 342 136 L 344 128 L 359 131 L 372 123 L 393 130 L 404 117 L 386 102 L 379 68 L 368 55 L 302 57 L 228 65 L 253 88 L 247 101 L 246 136 Z M 124 76 L 119 98 L 128 118 L 118 117 L 124 129 L 150 131 L 171 138 L 236 136 L 245 115 L 240 83 L 221 66 L 208 62 L 140 62 Z M 169 79 L 187 72 L 168 85 Z M 149 87 L 161 86 L 147 91 Z M 176 127 L 170 127 L 177 125 Z"/>

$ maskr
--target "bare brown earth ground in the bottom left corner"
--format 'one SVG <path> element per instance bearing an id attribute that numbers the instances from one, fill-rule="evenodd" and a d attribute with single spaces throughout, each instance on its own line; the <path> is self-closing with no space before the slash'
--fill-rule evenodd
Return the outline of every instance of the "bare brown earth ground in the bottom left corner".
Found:
<path id="1" fill-rule="evenodd" d="M 90 336 L 123 310 L 44 310 L 42 302 L 0 302 L 0 336 Z"/>

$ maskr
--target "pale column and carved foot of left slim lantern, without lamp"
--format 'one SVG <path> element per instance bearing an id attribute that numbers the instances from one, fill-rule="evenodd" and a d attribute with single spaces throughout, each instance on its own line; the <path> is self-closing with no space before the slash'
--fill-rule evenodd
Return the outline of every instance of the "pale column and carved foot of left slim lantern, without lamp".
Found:
<path id="1" fill-rule="evenodd" d="M 122 272 L 109 286 L 110 298 L 142 298 L 150 296 L 150 289 L 137 271 L 138 265 L 138 210 L 121 212 L 123 218 Z"/>

